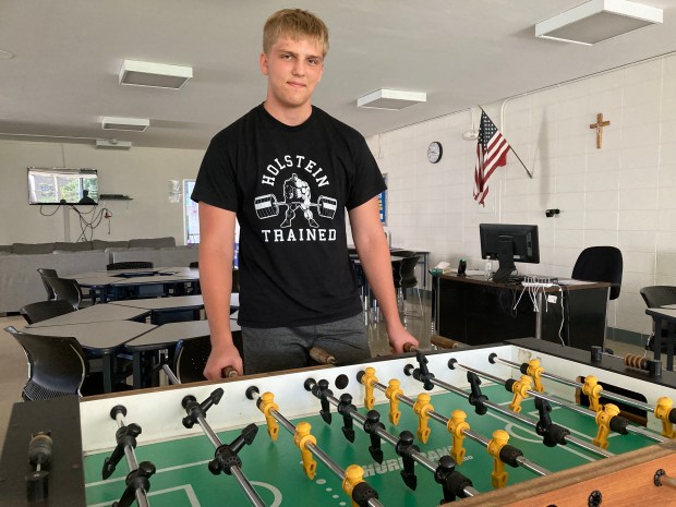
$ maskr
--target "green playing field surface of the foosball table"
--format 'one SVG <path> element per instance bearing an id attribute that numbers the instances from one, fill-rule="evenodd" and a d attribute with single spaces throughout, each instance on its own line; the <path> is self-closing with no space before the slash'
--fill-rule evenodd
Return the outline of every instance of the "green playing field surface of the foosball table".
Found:
<path id="1" fill-rule="evenodd" d="M 487 386 L 483 389 L 494 403 L 507 405 L 510 395 L 502 386 Z M 309 393 L 309 407 L 316 407 L 319 411 L 319 400 Z M 339 396 L 339 395 L 338 395 Z M 413 395 L 408 395 L 413 397 Z M 252 401 L 253 403 L 253 401 Z M 509 435 L 509 444 L 522 450 L 523 456 L 540 467 L 556 472 L 577 467 L 593 460 L 603 459 L 591 455 L 571 445 L 545 447 L 542 437 L 538 436 L 534 427 L 527 427 L 523 423 L 488 410 L 485 415 L 478 415 L 466 398 L 454 394 L 434 395 L 432 397 L 434 411 L 445 417 L 450 417 L 452 410 L 461 409 L 468 414 L 468 423 L 472 432 L 480 433 L 491 438 L 495 430 L 506 430 Z M 538 418 L 532 399 L 522 405 L 522 414 Z M 418 417 L 413 410 L 405 403 L 399 403 L 402 412 L 401 421 L 397 426 L 389 423 L 387 414 L 388 405 L 375 407 L 381 412 L 381 421 L 386 430 L 399 435 L 403 430 L 415 434 Z M 221 403 L 210 410 L 227 410 L 227 405 Z M 442 486 L 434 481 L 433 474 L 421 466 L 415 467 L 418 487 L 409 490 L 402 482 L 399 473 L 402 470 L 401 459 L 395 452 L 393 446 L 382 443 L 385 455 L 383 463 L 376 463 L 369 454 L 370 437 L 359 424 L 354 424 L 357 437 L 354 443 L 348 442 L 340 431 L 342 417 L 334 413 L 333 423 L 326 424 L 318 415 L 303 419 L 312 425 L 312 434 L 321 447 L 331 459 L 343 469 L 350 464 L 363 467 L 364 479 L 377 492 L 381 502 L 386 507 L 408 506 L 435 506 L 443 498 Z M 279 407 L 283 415 L 283 407 Z M 365 409 L 360 409 L 365 413 Z M 552 411 L 552 420 L 568 427 L 572 436 L 582 440 L 591 442 L 596 434 L 596 425 L 592 418 L 575 413 L 564 408 Z M 208 413 L 207 413 L 208 421 Z M 301 420 L 292 420 L 298 424 Z M 128 420 L 126 424 L 133 423 Z M 446 427 L 434 421 L 428 421 L 432 434 L 426 444 L 415 439 L 422 454 L 428 459 L 436 461 L 447 455 L 450 447 L 450 436 Z M 317 460 L 317 473 L 311 481 L 303 473 L 300 464 L 300 451 L 293 444 L 293 436 L 282 426 L 279 427 L 277 442 L 271 442 L 267 435 L 265 423 L 258 425 L 258 434 L 251 446 L 245 446 L 240 451 L 242 471 L 251 481 L 256 492 L 267 506 L 349 506 L 350 499 L 341 490 L 340 480 L 328 468 Z M 222 443 L 231 443 L 239 431 L 228 431 L 219 434 Z M 110 435 L 111 446 L 114 444 L 114 435 Z M 614 454 L 627 452 L 651 445 L 648 438 L 637 435 L 612 435 L 608 450 Z M 492 490 L 491 472 L 492 458 L 484 446 L 464 438 L 467 455 L 458 471 L 467 475 L 473 483 L 473 487 L 480 492 Z M 128 473 L 124 459 L 118 464 L 114 474 L 101 480 L 104 459 L 108 454 L 96 454 L 85 457 L 85 481 L 87 505 L 110 506 L 120 498 L 124 490 L 124 476 Z M 214 457 L 214 446 L 208 438 L 200 434 L 188 438 L 177 438 L 171 442 L 143 445 L 136 448 L 138 461 L 152 461 L 157 468 L 156 474 L 150 479 L 152 488 L 148 494 L 152 507 L 212 507 L 212 506 L 237 506 L 250 505 L 234 478 L 230 475 L 213 475 L 207 469 L 207 462 Z M 533 472 L 524 468 L 507 467 L 509 474 L 508 484 L 515 484 L 528 479 L 533 479 Z"/>

